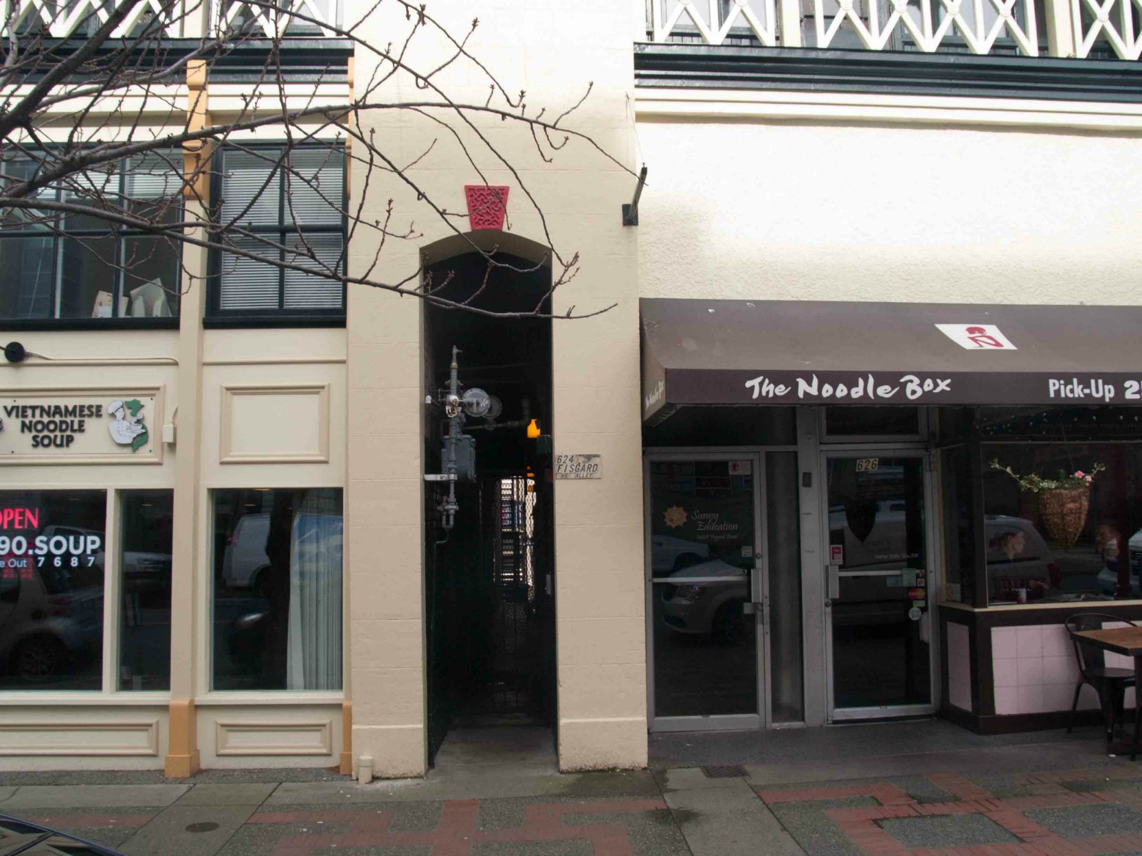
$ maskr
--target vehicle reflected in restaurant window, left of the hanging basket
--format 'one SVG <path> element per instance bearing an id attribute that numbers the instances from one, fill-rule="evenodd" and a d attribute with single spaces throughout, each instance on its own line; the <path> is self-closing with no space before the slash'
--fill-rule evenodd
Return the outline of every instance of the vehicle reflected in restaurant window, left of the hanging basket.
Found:
<path id="1" fill-rule="evenodd" d="M 1039 531 L 1022 517 L 986 517 L 988 587 L 992 600 L 1015 600 L 1019 589 L 1028 598 L 1042 597 L 1062 586 L 1062 571 Z"/>

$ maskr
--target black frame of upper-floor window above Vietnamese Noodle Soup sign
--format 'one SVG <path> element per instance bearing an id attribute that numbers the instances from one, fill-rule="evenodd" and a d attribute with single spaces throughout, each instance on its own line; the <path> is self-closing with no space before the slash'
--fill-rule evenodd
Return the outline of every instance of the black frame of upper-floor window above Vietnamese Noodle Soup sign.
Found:
<path id="1" fill-rule="evenodd" d="M 172 161 L 176 163 L 182 161 L 182 152 L 178 150 L 155 150 L 164 152 Z M 146 152 L 142 153 L 147 154 Z M 18 160 L 18 159 L 14 159 Z M 32 162 L 32 161 L 29 161 Z M 116 169 L 116 175 L 119 177 L 119 193 L 122 194 L 123 185 L 122 181 L 128 175 L 127 169 Z M 182 172 L 176 171 L 179 180 L 182 179 Z M 62 191 L 56 188 L 55 191 L 56 200 L 61 197 Z M 178 192 L 179 197 L 179 216 L 182 216 L 186 210 L 186 202 Z M 15 229 L 15 228 L 0 228 L 0 241 L 27 241 L 27 240 L 42 240 L 50 239 L 53 241 L 53 270 L 51 270 L 51 302 L 56 302 L 56 296 L 59 289 L 59 242 L 66 236 L 74 235 L 78 239 L 88 237 L 115 237 L 115 264 L 116 266 L 122 259 L 123 242 L 132 239 L 139 237 L 154 237 L 153 235 L 142 232 L 139 229 L 130 229 L 126 227 L 107 225 L 106 229 L 62 229 L 63 235 L 53 232 L 51 229 Z M 178 282 L 176 283 L 179 294 L 182 293 L 183 285 L 183 243 L 175 242 L 177 249 L 176 265 L 178 269 Z M 0 273 L 0 290 L 5 288 L 3 274 Z M 115 274 L 115 290 L 112 294 L 112 312 L 118 312 L 119 309 L 119 298 L 121 298 L 123 291 L 123 272 L 116 267 Z M 113 315 L 110 318 L 93 318 L 93 317 L 5 317 L 0 315 L 0 326 L 8 330 L 177 330 L 179 325 L 179 317 L 182 315 L 182 299 L 178 301 L 177 312 L 169 317 L 131 317 L 130 315 Z"/>

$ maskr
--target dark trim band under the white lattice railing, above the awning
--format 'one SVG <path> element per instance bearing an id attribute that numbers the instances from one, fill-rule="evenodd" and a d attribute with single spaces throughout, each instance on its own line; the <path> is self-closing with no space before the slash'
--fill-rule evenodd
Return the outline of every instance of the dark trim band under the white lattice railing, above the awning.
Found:
<path id="1" fill-rule="evenodd" d="M 917 51 L 635 45 L 635 86 L 1142 102 L 1142 65 Z"/>

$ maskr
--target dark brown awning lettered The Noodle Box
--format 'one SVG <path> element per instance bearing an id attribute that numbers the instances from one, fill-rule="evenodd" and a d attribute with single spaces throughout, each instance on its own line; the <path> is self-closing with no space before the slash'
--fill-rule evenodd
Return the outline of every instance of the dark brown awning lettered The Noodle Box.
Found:
<path id="1" fill-rule="evenodd" d="M 683 404 L 1142 405 L 1142 306 L 640 305 L 644 420 Z"/>

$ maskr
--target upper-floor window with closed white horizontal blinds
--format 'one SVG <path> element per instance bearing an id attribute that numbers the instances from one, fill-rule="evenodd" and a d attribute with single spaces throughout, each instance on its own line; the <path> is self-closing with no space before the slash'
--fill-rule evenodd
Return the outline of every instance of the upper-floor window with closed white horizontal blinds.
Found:
<path id="1" fill-rule="evenodd" d="M 214 251 L 211 315 L 343 318 L 344 148 L 224 148 L 215 171 L 235 252 Z"/>

